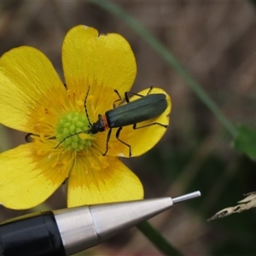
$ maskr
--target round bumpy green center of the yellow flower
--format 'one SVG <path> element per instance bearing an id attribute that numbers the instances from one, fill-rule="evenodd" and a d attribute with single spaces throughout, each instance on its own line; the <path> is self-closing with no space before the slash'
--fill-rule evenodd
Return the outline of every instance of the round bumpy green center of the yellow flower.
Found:
<path id="1" fill-rule="evenodd" d="M 79 151 L 91 145 L 91 139 L 81 138 L 83 131 L 87 130 L 89 130 L 89 122 L 85 113 L 71 112 L 63 115 L 59 120 L 56 137 L 61 143 L 60 146 L 67 150 Z"/>

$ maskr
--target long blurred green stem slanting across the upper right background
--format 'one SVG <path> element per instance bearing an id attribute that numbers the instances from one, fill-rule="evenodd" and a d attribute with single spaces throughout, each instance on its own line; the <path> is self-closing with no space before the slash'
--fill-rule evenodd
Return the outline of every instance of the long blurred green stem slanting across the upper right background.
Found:
<path id="1" fill-rule="evenodd" d="M 176 60 L 170 50 L 161 44 L 158 38 L 155 38 L 138 20 L 126 13 L 125 10 L 121 9 L 117 4 L 110 3 L 108 1 L 90 0 L 89 2 L 98 5 L 112 15 L 124 20 L 125 23 L 137 32 L 140 37 L 148 42 L 148 44 L 162 57 L 162 59 L 166 61 L 169 66 L 174 68 L 177 74 L 189 85 L 190 89 L 195 92 L 195 95 L 201 99 L 207 108 L 209 108 L 216 116 L 218 121 L 224 125 L 225 129 L 230 132 L 231 136 L 236 137 L 238 134 L 236 126 L 224 116 L 224 113 L 222 113 L 221 109 L 218 108 L 218 105 L 210 96 L 207 95 L 207 92 L 202 89 L 201 85 L 190 75 L 190 73 Z"/>

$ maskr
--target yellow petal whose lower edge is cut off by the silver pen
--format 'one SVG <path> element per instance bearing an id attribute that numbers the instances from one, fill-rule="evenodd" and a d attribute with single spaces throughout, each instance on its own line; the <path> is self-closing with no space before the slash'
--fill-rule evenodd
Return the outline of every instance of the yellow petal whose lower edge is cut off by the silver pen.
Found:
<path id="1" fill-rule="evenodd" d="M 108 167 L 85 173 L 78 159 L 68 179 L 67 206 L 143 199 L 143 185 L 120 160 L 106 157 Z"/>

